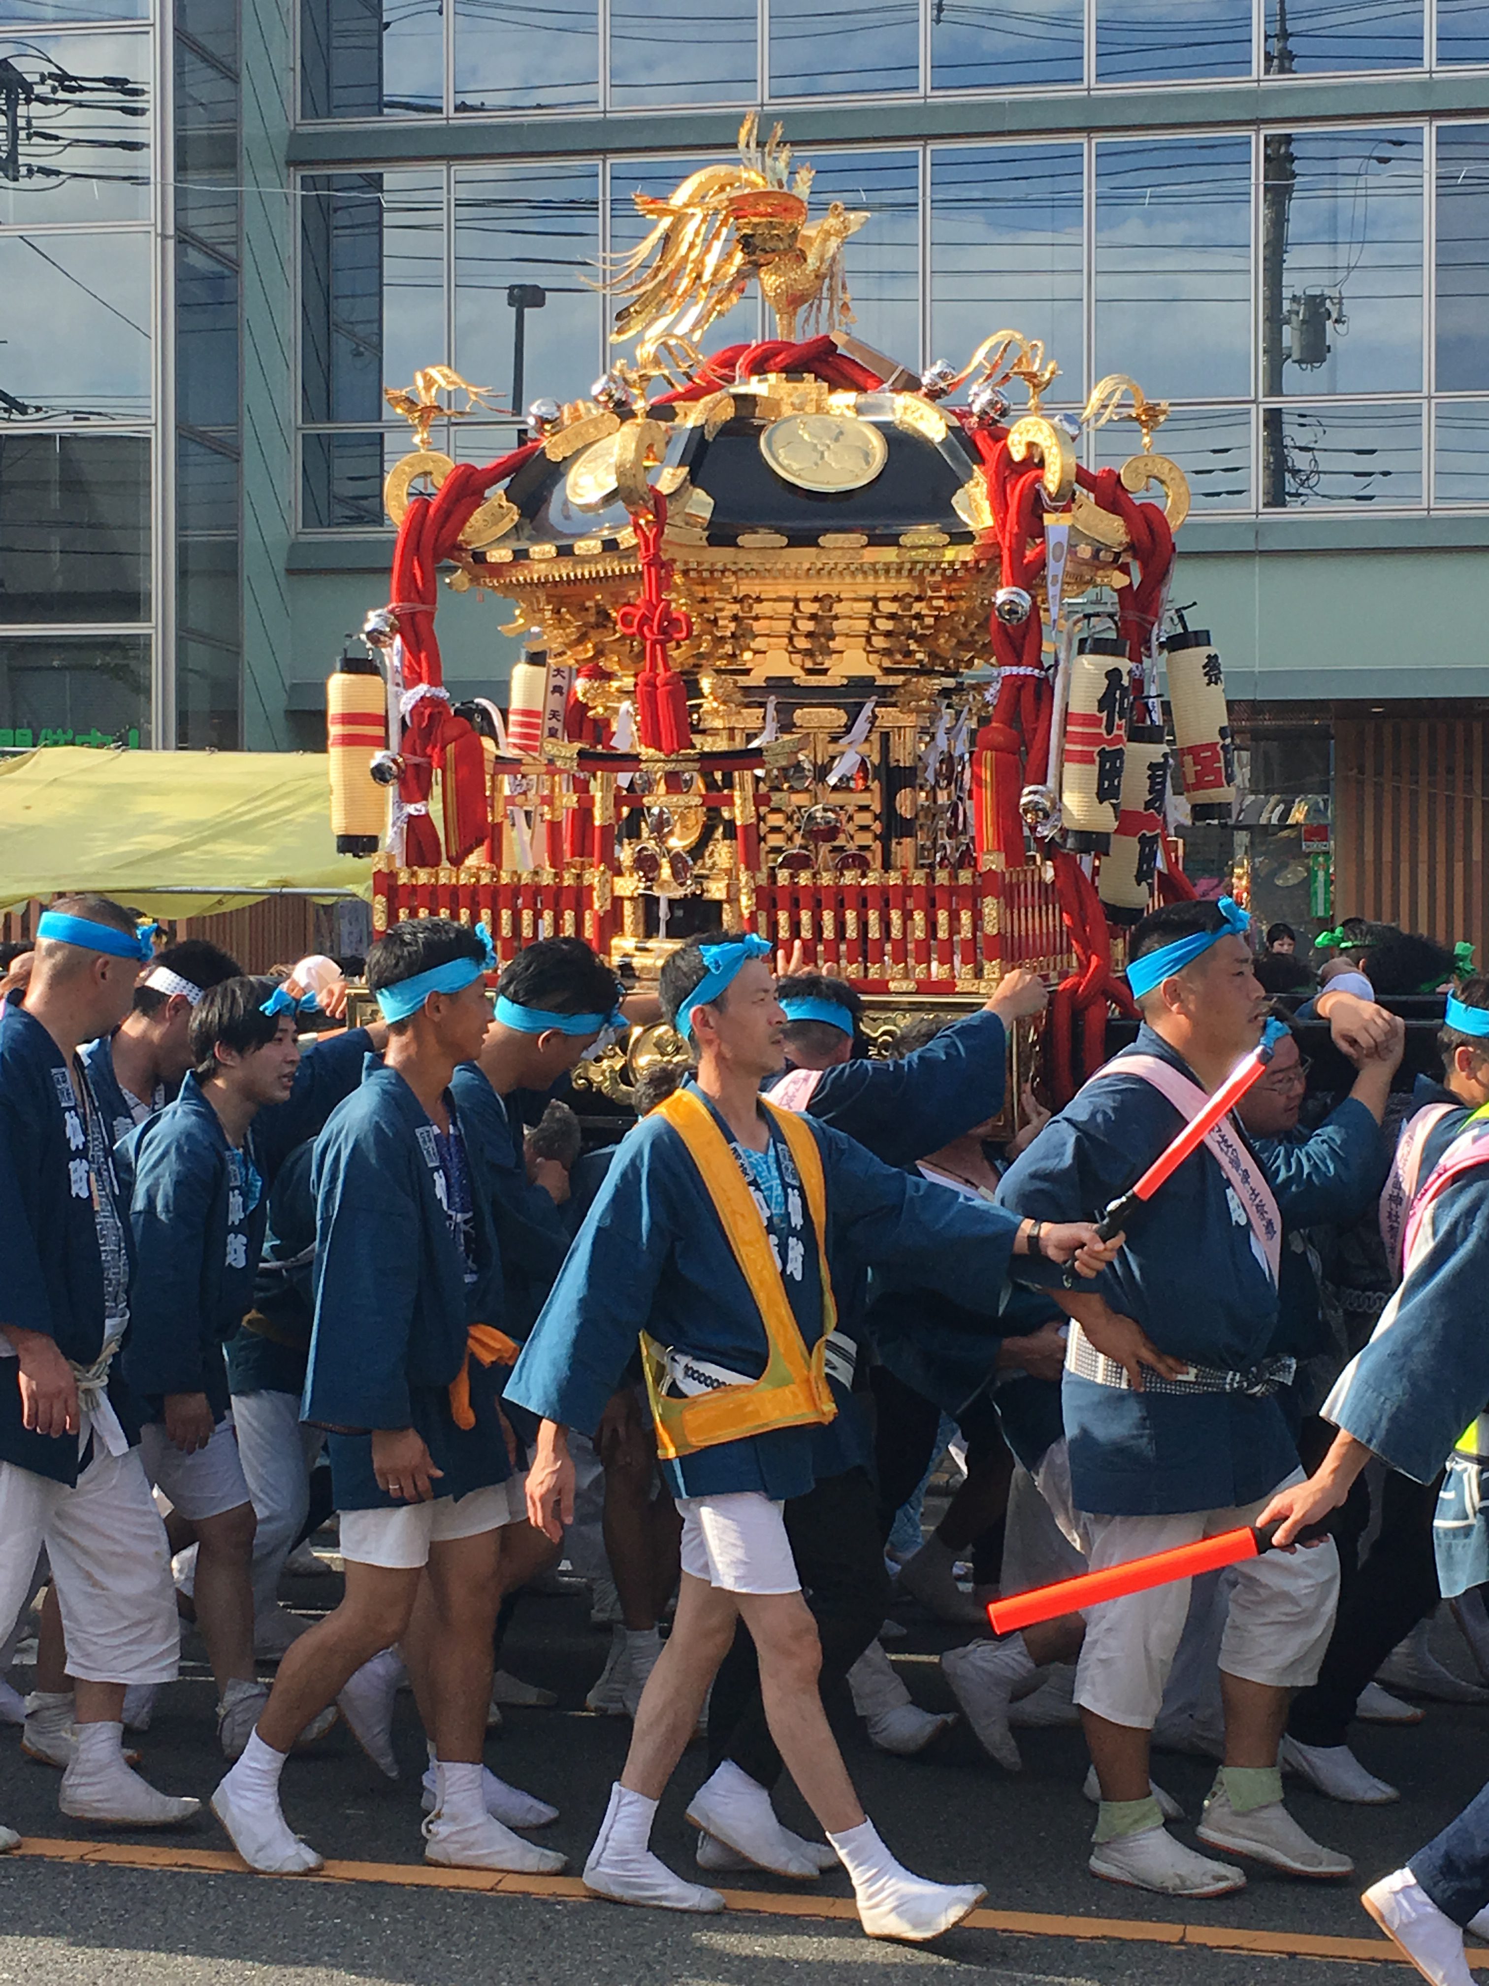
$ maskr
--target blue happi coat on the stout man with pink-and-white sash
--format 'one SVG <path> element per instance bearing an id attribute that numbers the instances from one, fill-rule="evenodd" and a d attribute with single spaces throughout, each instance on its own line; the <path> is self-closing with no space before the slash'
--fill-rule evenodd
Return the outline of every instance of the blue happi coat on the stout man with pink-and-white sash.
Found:
<path id="1" fill-rule="evenodd" d="M 1150 1027 L 1134 1051 L 1193 1078 Z M 1098 1217 L 1179 1134 L 1173 1104 L 1118 1055 L 1003 1176 L 999 1202 L 1046 1221 Z M 1279 1194 L 1286 1221 L 1290 1196 Z M 1080 1283 L 1177 1358 L 1245 1370 L 1277 1335 L 1277 1285 L 1209 1152 L 1195 1152 L 1128 1221 L 1128 1245 Z M 1298 1466 L 1275 1398 L 1151 1394 L 1064 1376 L 1064 1428 L 1080 1509 L 1150 1517 L 1253 1503 Z"/>

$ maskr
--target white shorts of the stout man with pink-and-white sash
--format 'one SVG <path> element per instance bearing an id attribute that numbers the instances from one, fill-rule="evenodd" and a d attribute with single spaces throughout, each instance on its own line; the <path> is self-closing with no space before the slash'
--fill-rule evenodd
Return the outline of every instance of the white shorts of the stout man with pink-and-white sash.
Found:
<path id="1" fill-rule="evenodd" d="M 1277 1490 L 1302 1482 L 1294 1470 Z M 1239 1509 L 1181 1511 L 1173 1517 L 1082 1515 L 1090 1533 L 1090 1567 L 1193 1545 L 1201 1537 L 1255 1523 L 1277 1490 Z M 1334 1629 L 1338 1551 L 1330 1539 L 1298 1551 L 1267 1551 L 1233 1569 L 1235 1591 L 1221 1640 L 1221 1670 L 1243 1682 L 1306 1690 Z M 1189 1581 L 1104 1601 L 1086 1615 L 1086 1640 L 1076 1670 L 1076 1702 L 1110 1724 L 1151 1730 L 1163 1706 L 1173 1656 L 1189 1613 Z"/>

